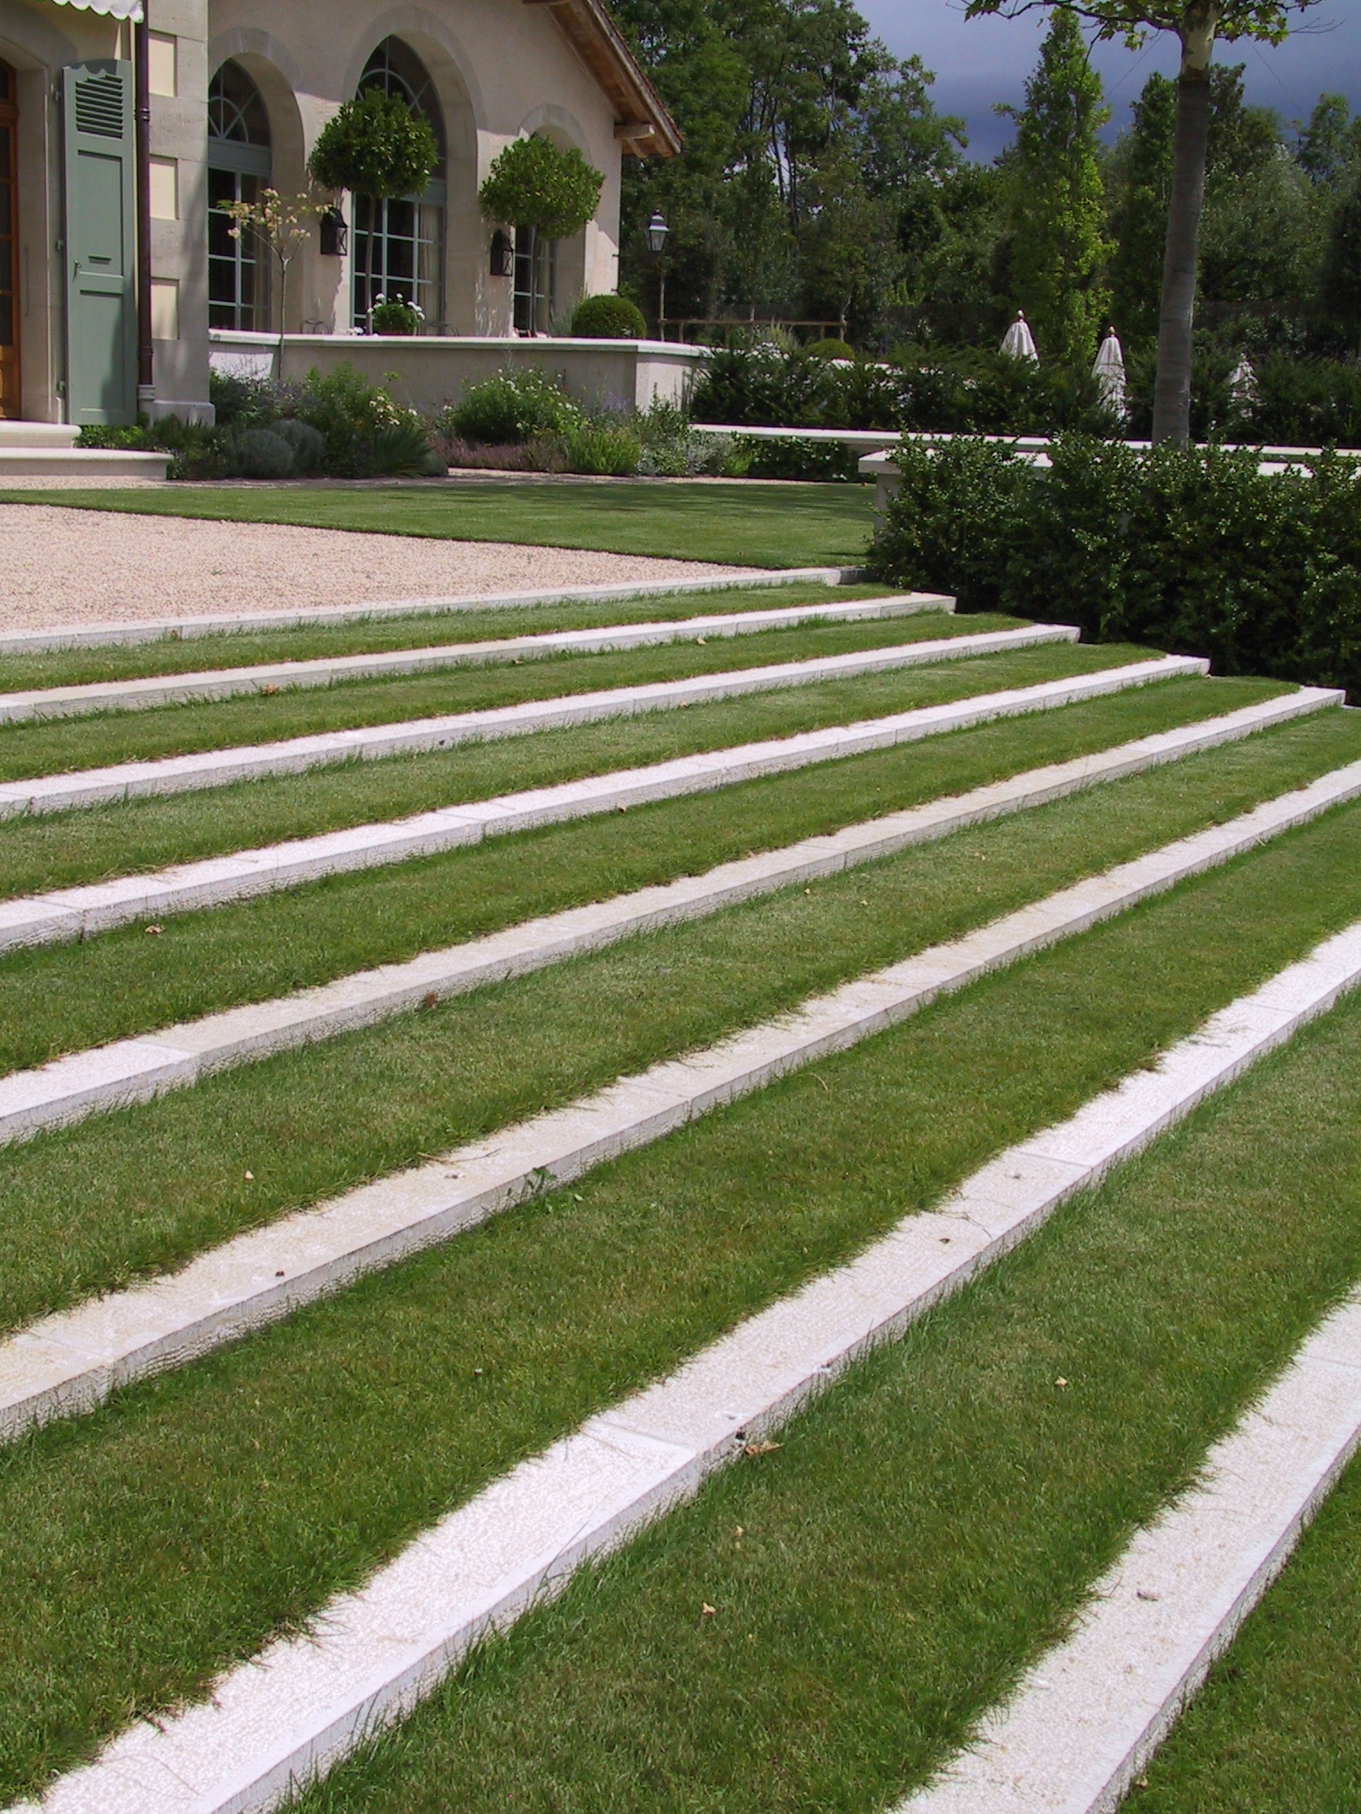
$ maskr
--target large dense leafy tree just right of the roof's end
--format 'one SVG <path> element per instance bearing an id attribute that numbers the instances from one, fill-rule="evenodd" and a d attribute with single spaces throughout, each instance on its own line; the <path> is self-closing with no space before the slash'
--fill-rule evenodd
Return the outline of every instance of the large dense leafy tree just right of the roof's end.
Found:
<path id="1" fill-rule="evenodd" d="M 666 314 L 749 307 L 900 325 L 913 259 L 898 223 L 958 167 L 964 122 L 933 76 L 896 62 L 849 0 L 619 0 L 619 24 L 686 134 L 671 160 L 626 160 L 622 283 L 657 296 L 644 227 L 670 223 Z"/>

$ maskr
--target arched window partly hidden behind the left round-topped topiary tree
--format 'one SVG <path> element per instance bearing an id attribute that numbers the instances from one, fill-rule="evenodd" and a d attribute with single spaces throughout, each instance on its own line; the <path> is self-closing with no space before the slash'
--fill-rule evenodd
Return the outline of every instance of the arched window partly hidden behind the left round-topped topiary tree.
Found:
<path id="1" fill-rule="evenodd" d="M 439 109 L 434 82 L 408 44 L 385 38 L 365 63 L 361 89 L 383 89 L 399 94 L 434 127 L 439 161 L 421 196 L 394 196 L 374 203 L 368 196 L 354 198 L 354 321 L 368 316 L 368 238 L 374 238 L 374 296 L 397 296 L 416 303 L 425 314 L 425 334 L 445 328 L 445 190 L 446 149 L 445 116 Z"/>

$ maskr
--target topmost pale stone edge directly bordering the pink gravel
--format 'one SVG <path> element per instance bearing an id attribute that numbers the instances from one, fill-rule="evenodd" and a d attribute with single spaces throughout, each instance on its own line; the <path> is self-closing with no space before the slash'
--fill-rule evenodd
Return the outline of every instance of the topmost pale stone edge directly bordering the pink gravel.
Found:
<path id="1" fill-rule="evenodd" d="M 630 599 L 686 597 L 706 591 L 746 591 L 777 586 L 855 586 L 864 568 L 751 568 L 702 579 L 617 580 L 606 586 L 550 586 L 546 591 L 455 593 L 428 599 L 387 599 L 372 604 L 318 604 L 296 611 L 221 611 L 198 617 L 122 619 L 53 629 L 13 629 L 0 635 L 0 655 L 42 655 L 49 649 L 89 649 L 162 637 L 216 637 L 254 629 L 299 629 L 310 624 L 383 622 L 390 617 L 441 617 L 455 611 L 514 611 L 534 604 L 624 604 Z"/>

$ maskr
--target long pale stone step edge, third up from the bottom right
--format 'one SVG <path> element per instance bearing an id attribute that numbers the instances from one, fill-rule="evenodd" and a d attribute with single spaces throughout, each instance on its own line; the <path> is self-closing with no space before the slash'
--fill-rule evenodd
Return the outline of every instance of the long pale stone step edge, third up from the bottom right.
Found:
<path id="1" fill-rule="evenodd" d="M 651 1145 L 711 1108 L 896 1025 L 942 994 L 1356 798 L 1361 762 L 566 1108 L 247 1230 L 178 1273 L 44 1317 L 0 1342 L 0 1440 L 91 1409 L 129 1380 L 181 1366 L 535 1192 Z"/>

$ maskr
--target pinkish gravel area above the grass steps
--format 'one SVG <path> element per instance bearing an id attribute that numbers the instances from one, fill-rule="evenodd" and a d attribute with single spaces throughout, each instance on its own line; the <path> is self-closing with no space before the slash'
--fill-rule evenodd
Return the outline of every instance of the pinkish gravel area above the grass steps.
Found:
<path id="1" fill-rule="evenodd" d="M 515 542 L 0 504 L 0 629 L 740 571 Z"/>

